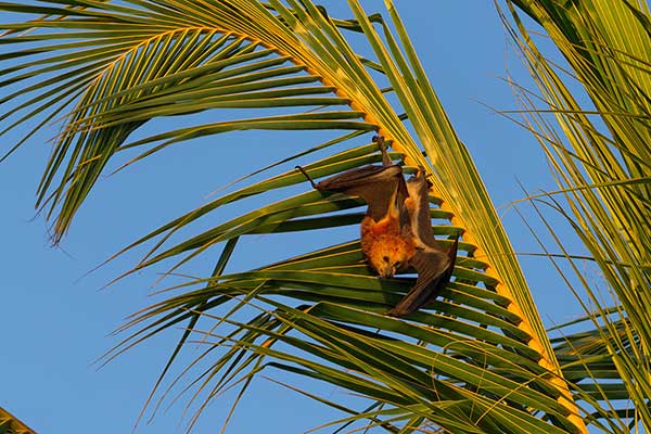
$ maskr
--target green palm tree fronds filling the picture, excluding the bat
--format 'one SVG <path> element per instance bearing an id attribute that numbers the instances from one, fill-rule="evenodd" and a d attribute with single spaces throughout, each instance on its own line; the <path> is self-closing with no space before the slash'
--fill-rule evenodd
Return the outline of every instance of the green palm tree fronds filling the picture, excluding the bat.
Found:
<path id="1" fill-rule="evenodd" d="M 190 366 L 188 375 L 174 381 L 189 382 L 196 414 L 224 390 L 239 386 L 243 394 L 255 375 L 282 370 L 366 397 L 369 406 L 354 410 L 302 391 L 343 411 L 333 424 L 344 426 L 365 421 L 393 432 L 455 433 L 651 426 L 646 5 L 515 1 L 508 3 L 510 17 L 503 15 L 570 143 L 523 92 L 528 126 L 558 173 L 558 194 L 571 207 L 564 215 L 576 224 L 615 294 L 614 308 L 607 308 L 591 292 L 600 306 L 588 309 L 592 327 L 552 342 L 482 179 L 390 0 L 386 16 L 369 15 L 350 0 L 350 20 L 332 17 L 307 0 L 44 3 L 0 4 L 3 11 L 41 14 L 5 25 L 3 42 L 16 44 L 5 60 L 21 63 L 3 66 L 9 78 L 2 85 L 16 88 L 3 99 L 13 105 L 2 118 L 13 119 L 7 131 L 33 118 L 41 127 L 63 116 L 37 203 L 53 221 L 54 243 L 116 155 L 136 151 L 128 163 L 133 164 L 175 143 L 247 129 L 337 131 L 299 154 L 330 151 L 304 165 L 312 177 L 379 162 L 371 136 L 382 135 L 405 171 L 422 166 L 430 175 L 433 231 L 441 242 L 461 237 L 452 282 L 427 309 L 405 319 L 383 314 L 413 279 L 374 277 L 357 240 L 226 273 L 242 237 L 307 235 L 360 221 L 362 202 L 312 191 L 289 167 L 179 216 L 119 253 L 150 246 L 126 275 L 170 263 L 166 272 L 174 273 L 221 246 L 212 276 L 188 278 L 170 288 L 177 295 L 140 311 L 125 324 L 132 332 L 110 358 L 183 327 L 161 384 L 183 344 L 204 343 L 194 362 L 207 369 L 192 378 Z M 516 7 L 545 27 L 567 59 L 605 132 L 540 54 Z M 622 23 L 626 38 L 620 37 Z M 358 49 L 352 37 L 363 38 L 367 48 Z M 25 42 L 36 48 L 20 48 Z M 26 92 L 26 100 L 18 99 Z M 278 112 L 269 115 L 270 107 Z M 255 117 L 202 118 L 133 139 L 154 118 L 226 108 L 258 111 Z M 290 196 L 286 188 L 296 184 L 305 188 Z M 271 192 L 280 199 L 263 203 L 263 193 Z M 558 194 L 541 200 L 563 210 Z M 259 200 L 259 206 L 207 230 L 194 229 L 246 197 Z M 630 399 L 633 408 L 621 399 Z"/>

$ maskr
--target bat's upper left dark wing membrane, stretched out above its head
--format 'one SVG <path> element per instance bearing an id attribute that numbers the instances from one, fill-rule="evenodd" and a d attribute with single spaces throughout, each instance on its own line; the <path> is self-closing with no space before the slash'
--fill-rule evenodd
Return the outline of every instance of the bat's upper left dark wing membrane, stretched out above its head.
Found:
<path id="1" fill-rule="evenodd" d="M 408 194 L 403 169 L 396 165 L 350 169 L 324 179 L 316 187 L 362 197 L 369 206 L 369 215 L 375 221 L 386 216 L 390 206 L 400 204 Z"/>

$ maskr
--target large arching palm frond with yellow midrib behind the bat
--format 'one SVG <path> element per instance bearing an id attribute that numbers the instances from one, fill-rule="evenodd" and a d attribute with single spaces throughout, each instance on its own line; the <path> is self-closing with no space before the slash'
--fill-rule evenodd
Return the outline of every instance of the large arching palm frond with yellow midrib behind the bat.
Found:
<path id="1" fill-rule="evenodd" d="M 442 242 L 461 234 L 465 252 L 443 299 L 408 320 L 383 314 L 413 278 L 371 276 L 354 240 L 226 273 L 241 237 L 361 218 L 349 210 L 362 204 L 341 194 L 290 196 L 281 189 L 303 178 L 288 170 L 226 193 L 127 247 L 153 243 L 129 272 L 171 263 L 171 273 L 226 244 L 213 276 L 189 279 L 168 290 L 179 294 L 139 312 L 125 326 L 137 330 L 116 353 L 187 322 L 163 374 L 182 344 L 199 335 L 208 349 L 181 373 L 207 365 L 184 387 L 194 390 L 190 400 L 197 412 L 225 388 L 246 387 L 260 371 L 281 369 L 381 403 L 381 411 L 356 411 L 352 418 L 388 431 L 419 429 L 411 426 L 417 423 L 451 432 L 585 432 L 578 414 L 589 411 L 572 403 L 509 240 L 391 1 L 390 21 L 367 15 L 355 0 L 348 21 L 295 0 L 49 3 L 0 3 L 0 10 L 47 14 L 5 26 L 5 44 L 38 42 L 38 49 L 15 50 L 11 58 L 25 62 L 7 68 L 9 78 L 0 86 L 30 92 L 9 113 L 22 117 L 8 130 L 31 117 L 49 122 L 66 114 L 39 190 L 39 205 L 49 206 L 55 219 L 55 242 L 120 152 L 137 150 L 131 162 L 139 162 L 171 144 L 220 132 L 332 129 L 344 132 L 329 142 L 346 141 L 348 148 L 306 165 L 310 175 L 379 161 L 375 145 L 355 146 L 349 140 L 378 131 L 407 173 L 421 166 L 431 175 L 431 202 L 437 205 L 432 216 L 441 220 L 433 231 Z M 363 35 L 372 58 L 358 54 L 345 31 Z M 64 77 L 63 84 L 56 77 Z M 18 90 L 4 102 L 17 95 Z M 256 115 L 203 117 L 225 108 L 255 108 Z M 179 115 L 197 117 L 183 128 L 133 137 L 150 119 Z M 207 230 L 193 229 L 220 207 L 268 192 L 282 199 Z M 176 237 L 181 229 L 183 235 Z M 195 232 L 188 237 L 186 230 Z"/>

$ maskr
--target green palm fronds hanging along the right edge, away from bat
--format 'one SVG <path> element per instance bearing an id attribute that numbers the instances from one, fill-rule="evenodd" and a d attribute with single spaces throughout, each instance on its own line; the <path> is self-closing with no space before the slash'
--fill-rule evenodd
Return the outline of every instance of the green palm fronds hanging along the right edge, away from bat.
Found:
<path id="1" fill-rule="evenodd" d="M 621 417 L 651 427 L 649 381 L 651 335 L 647 306 L 651 301 L 649 221 L 651 208 L 651 38 L 646 2 L 566 3 L 513 1 L 540 23 L 564 55 L 591 105 L 569 87 L 559 68 L 538 49 L 515 9 L 510 28 L 550 110 L 552 122 L 526 98 L 533 128 L 554 170 L 563 199 L 545 199 L 564 216 L 599 267 L 610 294 L 596 291 L 567 256 L 578 292 L 587 294 L 586 312 L 593 323 L 587 334 L 559 344 L 561 359 L 573 358 L 579 395 L 605 408 L 600 416 Z M 598 115 L 598 117 L 596 116 Z M 558 125 L 554 126 L 553 124 Z M 587 188 L 586 188 L 587 187 Z M 558 240 L 557 240 L 558 241 Z M 562 244 L 562 243 L 560 243 Z M 559 244 L 559 245 L 560 245 Z M 609 302 L 609 298 L 612 301 Z M 616 305 L 615 311 L 608 304 Z M 586 353 L 587 352 L 587 353 Z M 583 376 L 582 376 L 583 375 Z M 600 384 L 600 379 L 614 384 Z M 620 408 L 617 399 L 630 399 Z"/>

